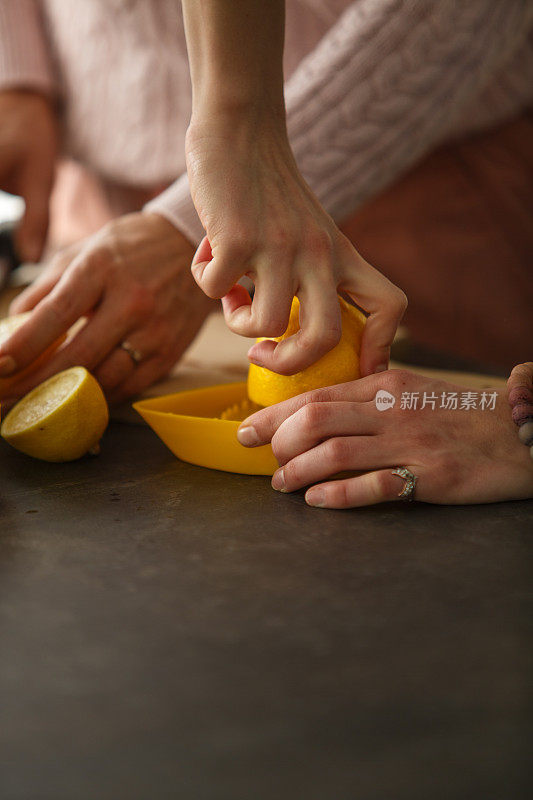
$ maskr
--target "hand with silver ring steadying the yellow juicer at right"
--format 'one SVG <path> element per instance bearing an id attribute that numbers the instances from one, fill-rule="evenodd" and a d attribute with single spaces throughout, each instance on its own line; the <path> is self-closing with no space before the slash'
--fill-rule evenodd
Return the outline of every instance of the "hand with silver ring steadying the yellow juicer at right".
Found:
<path id="1" fill-rule="evenodd" d="M 384 411 L 375 401 L 380 389 L 395 398 Z M 311 486 L 305 499 L 312 506 L 396 500 L 404 485 L 391 474 L 398 466 L 418 476 L 415 498 L 429 503 L 533 497 L 533 462 L 518 439 L 506 392 L 470 391 L 390 370 L 258 411 L 238 436 L 247 446 L 272 442 L 281 467 L 272 486 L 284 492 Z M 413 398 L 417 407 L 404 407 Z M 346 470 L 365 474 L 324 483 Z"/>

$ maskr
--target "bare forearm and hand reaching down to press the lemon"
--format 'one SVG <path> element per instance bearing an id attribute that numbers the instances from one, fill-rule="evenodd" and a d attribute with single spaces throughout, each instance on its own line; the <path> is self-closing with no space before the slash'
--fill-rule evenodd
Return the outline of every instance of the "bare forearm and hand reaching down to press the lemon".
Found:
<path id="1" fill-rule="evenodd" d="M 283 100 L 284 0 L 182 5 L 193 88 L 185 153 L 207 233 L 195 280 L 223 298 L 228 326 L 243 336 L 281 336 L 298 296 L 298 333 L 248 353 L 286 375 L 337 344 L 345 291 L 369 314 L 362 373 L 386 369 L 405 295 L 354 250 L 298 171 Z M 253 302 L 237 283 L 243 275 L 255 283 Z"/>

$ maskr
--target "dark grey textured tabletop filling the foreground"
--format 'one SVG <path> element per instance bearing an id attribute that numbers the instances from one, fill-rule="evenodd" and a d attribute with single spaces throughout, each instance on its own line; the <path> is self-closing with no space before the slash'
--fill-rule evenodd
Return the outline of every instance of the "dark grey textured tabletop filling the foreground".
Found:
<path id="1" fill-rule="evenodd" d="M 0 444 L 3 800 L 526 798 L 533 504 Z"/>

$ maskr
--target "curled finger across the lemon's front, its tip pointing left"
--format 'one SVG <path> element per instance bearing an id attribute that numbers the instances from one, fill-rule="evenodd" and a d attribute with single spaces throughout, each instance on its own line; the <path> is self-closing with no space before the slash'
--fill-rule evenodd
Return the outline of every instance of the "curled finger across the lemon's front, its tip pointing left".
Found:
<path id="1" fill-rule="evenodd" d="M 311 276 L 298 291 L 300 330 L 281 342 L 258 342 L 248 351 L 252 363 L 281 375 L 294 375 L 338 344 L 341 313 L 333 281 Z"/>

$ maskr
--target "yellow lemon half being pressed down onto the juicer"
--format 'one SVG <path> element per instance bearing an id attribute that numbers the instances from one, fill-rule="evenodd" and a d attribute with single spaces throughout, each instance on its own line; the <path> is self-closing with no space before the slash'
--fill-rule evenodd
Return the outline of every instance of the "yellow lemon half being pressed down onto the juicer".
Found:
<path id="1" fill-rule="evenodd" d="M 248 370 L 248 397 L 250 400 L 261 406 L 270 406 L 311 389 L 332 386 L 335 383 L 344 383 L 360 377 L 359 352 L 366 317 L 362 311 L 349 305 L 341 297 L 339 297 L 339 303 L 342 335 L 333 350 L 322 356 L 315 364 L 295 375 L 278 375 L 264 367 L 250 364 Z M 299 312 L 300 304 L 298 298 L 295 297 L 287 330 L 275 341 L 286 339 L 299 330 Z M 257 341 L 264 341 L 264 339 Z"/>

